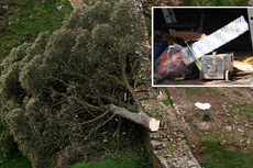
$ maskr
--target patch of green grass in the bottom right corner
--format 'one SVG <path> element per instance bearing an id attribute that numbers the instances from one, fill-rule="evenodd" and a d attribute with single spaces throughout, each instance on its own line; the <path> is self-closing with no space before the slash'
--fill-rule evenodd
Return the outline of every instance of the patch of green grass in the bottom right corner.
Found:
<path id="1" fill-rule="evenodd" d="M 200 154 L 209 153 L 211 157 L 205 163 L 200 163 L 205 168 L 252 168 L 253 153 L 244 154 L 238 150 L 226 150 L 217 142 L 202 142 L 206 146 Z"/>

